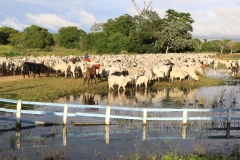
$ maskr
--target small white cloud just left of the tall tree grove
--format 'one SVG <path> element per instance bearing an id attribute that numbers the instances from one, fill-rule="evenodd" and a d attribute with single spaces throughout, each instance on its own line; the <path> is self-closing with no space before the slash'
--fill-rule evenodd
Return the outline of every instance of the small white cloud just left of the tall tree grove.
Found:
<path id="1" fill-rule="evenodd" d="M 94 23 L 98 23 L 93 14 L 85 11 L 79 11 L 80 22 L 82 25 L 92 26 Z"/>

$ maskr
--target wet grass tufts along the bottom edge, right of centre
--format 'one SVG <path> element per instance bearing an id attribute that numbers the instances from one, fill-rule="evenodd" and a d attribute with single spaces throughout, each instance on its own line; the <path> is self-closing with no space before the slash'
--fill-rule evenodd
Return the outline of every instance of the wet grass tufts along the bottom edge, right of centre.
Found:
<path id="1" fill-rule="evenodd" d="M 165 149 L 164 149 L 165 148 Z M 151 151 L 150 151 L 151 149 Z M 202 147 L 201 147 L 202 149 Z M 199 152 L 198 150 L 193 153 L 184 152 L 178 144 L 170 144 L 168 141 L 163 141 L 161 146 L 154 144 L 150 146 L 140 146 L 135 144 L 135 151 L 128 155 L 119 155 L 116 157 L 108 158 L 109 160 L 228 160 L 237 159 L 238 157 L 226 156 L 221 153 Z"/>

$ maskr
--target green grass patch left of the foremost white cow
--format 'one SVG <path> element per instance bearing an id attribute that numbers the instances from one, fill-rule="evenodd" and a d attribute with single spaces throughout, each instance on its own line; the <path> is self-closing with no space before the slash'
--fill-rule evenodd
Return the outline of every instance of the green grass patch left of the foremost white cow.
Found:
<path id="1" fill-rule="evenodd" d="M 93 81 L 94 82 L 94 81 Z M 83 79 L 64 77 L 23 78 L 18 81 L 0 82 L 0 96 L 7 99 L 52 102 L 66 95 L 86 92 L 106 92 L 107 82 L 83 84 Z"/>

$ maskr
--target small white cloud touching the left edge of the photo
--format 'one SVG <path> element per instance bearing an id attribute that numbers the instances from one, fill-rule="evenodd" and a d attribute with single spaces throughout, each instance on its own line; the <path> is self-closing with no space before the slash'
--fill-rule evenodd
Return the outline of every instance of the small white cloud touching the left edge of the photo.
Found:
<path id="1" fill-rule="evenodd" d="M 7 26 L 16 30 L 24 30 L 27 25 L 20 23 L 15 17 L 7 16 L 1 23 L 1 26 Z"/>

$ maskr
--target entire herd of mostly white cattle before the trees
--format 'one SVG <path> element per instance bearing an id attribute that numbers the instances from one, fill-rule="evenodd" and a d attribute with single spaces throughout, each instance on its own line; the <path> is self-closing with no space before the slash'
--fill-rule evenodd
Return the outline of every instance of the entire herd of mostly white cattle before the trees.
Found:
<path id="1" fill-rule="evenodd" d="M 97 55 L 91 56 L 91 62 L 84 61 L 80 56 L 27 56 L 0 57 L 0 73 L 3 76 L 22 74 L 28 77 L 37 74 L 49 76 L 55 73 L 72 78 L 84 78 L 86 81 L 96 77 L 108 80 L 109 90 L 114 85 L 125 86 L 134 82 L 135 87 L 145 85 L 150 81 L 166 79 L 173 82 L 186 78 L 198 81 L 199 75 L 205 75 L 204 68 L 212 66 L 217 69 L 224 65 L 237 73 L 240 60 L 220 60 L 215 54 L 141 54 L 141 55 Z"/>

